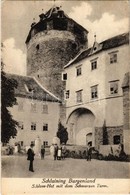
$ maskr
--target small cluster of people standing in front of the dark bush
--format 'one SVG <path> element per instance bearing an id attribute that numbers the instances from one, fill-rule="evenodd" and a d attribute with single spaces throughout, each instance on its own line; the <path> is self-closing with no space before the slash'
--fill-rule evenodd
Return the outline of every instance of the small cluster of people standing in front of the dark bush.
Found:
<path id="1" fill-rule="evenodd" d="M 62 146 L 58 146 L 57 144 L 52 144 L 50 147 L 50 153 L 53 156 L 54 160 L 65 159 L 66 146 L 62 144 Z"/>

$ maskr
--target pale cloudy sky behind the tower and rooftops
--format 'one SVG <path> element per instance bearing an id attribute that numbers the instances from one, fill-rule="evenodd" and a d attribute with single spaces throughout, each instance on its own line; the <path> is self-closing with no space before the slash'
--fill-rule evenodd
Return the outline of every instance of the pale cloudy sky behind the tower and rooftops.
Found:
<path id="1" fill-rule="evenodd" d="M 1 3 L 1 40 L 4 44 L 2 58 L 5 71 L 26 75 L 26 44 L 25 40 L 30 25 L 35 18 L 48 11 L 54 5 L 53 0 L 48 1 L 3 1 Z M 129 7 L 128 1 L 61 1 L 56 0 L 55 5 L 62 6 L 64 12 L 89 31 L 89 47 L 93 45 L 94 35 L 97 42 L 112 36 L 128 32 Z"/>

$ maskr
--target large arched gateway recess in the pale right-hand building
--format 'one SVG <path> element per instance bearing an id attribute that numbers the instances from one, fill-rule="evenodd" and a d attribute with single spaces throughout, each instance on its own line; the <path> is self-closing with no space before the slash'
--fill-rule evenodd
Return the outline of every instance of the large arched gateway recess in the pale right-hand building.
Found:
<path id="1" fill-rule="evenodd" d="M 75 109 L 67 119 L 68 143 L 94 145 L 94 114 L 86 108 Z"/>

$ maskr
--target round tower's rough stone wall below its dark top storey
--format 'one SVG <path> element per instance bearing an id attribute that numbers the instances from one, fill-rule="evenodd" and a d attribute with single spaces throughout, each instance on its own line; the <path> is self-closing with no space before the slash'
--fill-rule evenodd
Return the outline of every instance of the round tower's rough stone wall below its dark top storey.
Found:
<path id="1" fill-rule="evenodd" d="M 61 80 L 63 66 L 79 49 L 75 37 L 69 32 L 49 31 L 31 40 L 27 51 L 27 75 L 35 76 L 40 83 L 59 98 L 63 98 L 65 83 Z"/>

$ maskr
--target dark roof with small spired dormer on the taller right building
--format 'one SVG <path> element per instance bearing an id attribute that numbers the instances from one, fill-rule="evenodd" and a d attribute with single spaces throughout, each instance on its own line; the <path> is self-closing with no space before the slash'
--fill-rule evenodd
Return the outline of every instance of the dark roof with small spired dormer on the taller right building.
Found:
<path id="1" fill-rule="evenodd" d="M 77 63 L 80 60 L 88 58 L 89 56 L 92 56 L 101 51 L 119 47 L 124 44 L 129 44 L 129 33 L 123 33 L 123 34 L 117 35 L 99 44 L 96 42 L 96 44 L 95 43 L 93 44 L 93 47 L 87 50 L 81 51 L 74 59 L 72 59 L 67 65 L 65 65 L 64 68 L 67 68 L 68 66 L 74 63 Z M 97 45 L 97 49 L 94 51 L 95 45 Z"/>

